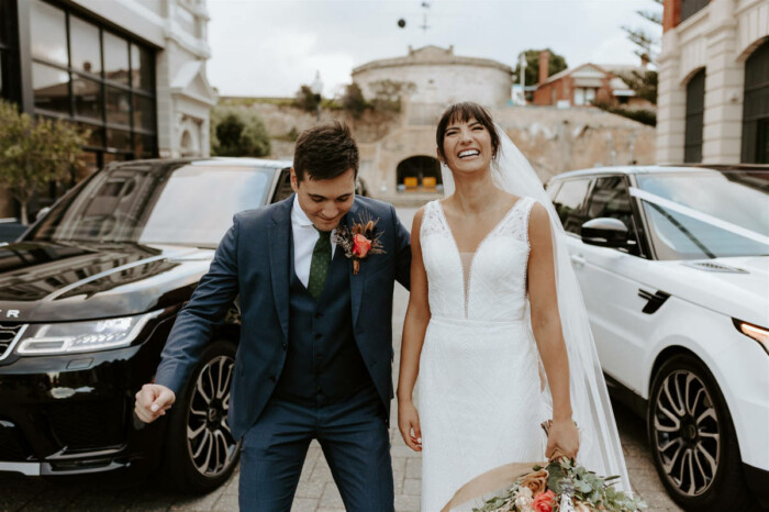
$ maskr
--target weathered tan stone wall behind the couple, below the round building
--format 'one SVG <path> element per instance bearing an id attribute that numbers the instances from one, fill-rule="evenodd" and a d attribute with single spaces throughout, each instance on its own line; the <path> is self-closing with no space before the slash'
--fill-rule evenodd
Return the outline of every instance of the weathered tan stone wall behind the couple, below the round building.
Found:
<path id="1" fill-rule="evenodd" d="M 313 126 L 315 115 L 292 107 L 257 103 L 256 110 L 272 137 L 286 138 Z M 369 192 L 392 202 L 406 197 L 420 201 L 434 197 L 397 192 L 398 164 L 412 156 L 435 156 L 435 124 L 443 111 L 439 104 L 406 105 L 402 114 L 367 112 L 355 120 L 341 111 L 323 111 L 322 121 L 347 122 L 360 147 L 360 176 Z M 610 165 L 653 164 L 655 130 L 595 108 L 499 107 L 491 109 L 504 129 L 536 169 L 539 178 L 580 168 Z M 272 140 L 272 157 L 291 159 L 293 143 Z"/>

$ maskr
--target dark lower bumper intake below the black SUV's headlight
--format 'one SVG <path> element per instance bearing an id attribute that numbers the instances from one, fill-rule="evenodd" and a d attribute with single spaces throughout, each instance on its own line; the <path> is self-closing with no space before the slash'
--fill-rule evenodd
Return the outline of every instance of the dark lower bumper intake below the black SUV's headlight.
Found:
<path id="1" fill-rule="evenodd" d="M 48 421 L 58 443 L 68 450 L 103 448 L 124 442 L 124 409 L 114 400 L 70 401 L 54 404 Z"/>

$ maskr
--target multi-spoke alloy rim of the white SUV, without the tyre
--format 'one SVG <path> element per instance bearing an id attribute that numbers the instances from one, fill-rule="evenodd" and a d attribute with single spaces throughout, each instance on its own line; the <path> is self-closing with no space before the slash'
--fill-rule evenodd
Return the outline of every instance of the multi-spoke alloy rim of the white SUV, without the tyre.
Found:
<path id="1" fill-rule="evenodd" d="M 721 453 L 721 427 L 713 399 L 694 372 L 666 376 L 654 397 L 654 443 L 668 481 L 687 497 L 713 483 Z"/>

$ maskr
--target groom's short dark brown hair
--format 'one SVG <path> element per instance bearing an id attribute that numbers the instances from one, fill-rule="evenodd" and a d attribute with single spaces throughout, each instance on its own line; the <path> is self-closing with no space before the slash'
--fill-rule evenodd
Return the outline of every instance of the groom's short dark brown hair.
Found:
<path id="1" fill-rule="evenodd" d="M 293 171 L 297 180 L 304 176 L 317 181 L 333 179 L 348 169 L 358 177 L 358 146 L 346 124 L 338 121 L 305 130 L 297 138 Z"/>

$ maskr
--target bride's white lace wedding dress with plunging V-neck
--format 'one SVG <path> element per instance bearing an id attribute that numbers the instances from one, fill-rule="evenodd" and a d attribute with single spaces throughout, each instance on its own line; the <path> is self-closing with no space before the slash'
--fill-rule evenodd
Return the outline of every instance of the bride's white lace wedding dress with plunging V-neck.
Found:
<path id="1" fill-rule="evenodd" d="M 520 199 L 465 258 L 442 204 L 425 207 L 420 238 L 432 315 L 419 377 L 425 512 L 439 511 L 489 469 L 545 460 L 539 424 L 549 413 L 526 320 L 534 203 Z"/>

